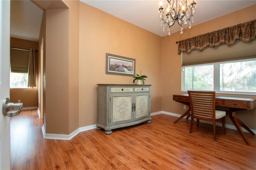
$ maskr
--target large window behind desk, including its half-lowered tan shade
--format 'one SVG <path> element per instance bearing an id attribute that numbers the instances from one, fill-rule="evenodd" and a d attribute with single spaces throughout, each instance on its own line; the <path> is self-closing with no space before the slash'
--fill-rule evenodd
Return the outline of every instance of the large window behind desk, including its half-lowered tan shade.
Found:
<path id="1" fill-rule="evenodd" d="M 256 95 L 256 40 L 182 52 L 182 90 Z"/>

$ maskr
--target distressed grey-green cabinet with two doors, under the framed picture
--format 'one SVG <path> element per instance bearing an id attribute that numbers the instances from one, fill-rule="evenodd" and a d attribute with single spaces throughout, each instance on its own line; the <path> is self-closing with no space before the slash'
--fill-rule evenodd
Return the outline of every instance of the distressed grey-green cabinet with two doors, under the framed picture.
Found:
<path id="1" fill-rule="evenodd" d="M 98 85 L 97 129 L 111 134 L 112 129 L 151 123 L 151 85 Z"/>

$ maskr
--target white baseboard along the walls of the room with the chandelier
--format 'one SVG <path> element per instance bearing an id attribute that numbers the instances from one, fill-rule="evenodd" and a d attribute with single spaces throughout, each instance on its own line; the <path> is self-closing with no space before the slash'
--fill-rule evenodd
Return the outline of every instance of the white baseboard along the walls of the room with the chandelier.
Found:
<path id="1" fill-rule="evenodd" d="M 171 116 L 175 116 L 175 117 L 180 117 L 179 114 L 170 113 L 170 112 L 166 112 L 166 111 L 154 112 L 154 113 L 151 113 L 151 116 L 159 115 L 159 114 L 165 114 L 165 115 L 171 115 Z M 186 117 L 184 117 L 183 119 L 186 119 Z M 188 119 L 190 119 L 190 117 Z M 212 122 L 208 122 L 208 121 L 202 121 L 202 122 L 203 123 L 212 124 Z M 220 126 L 221 127 L 222 124 L 217 122 L 216 126 Z M 226 126 L 226 128 L 237 130 L 234 125 L 226 124 L 225 126 Z M 94 129 L 96 127 L 97 127 L 96 125 L 89 125 L 89 126 L 86 126 L 86 127 L 80 127 L 78 129 L 74 130 L 74 132 L 72 132 L 70 134 L 49 134 L 49 133 L 45 133 L 45 128 L 44 128 L 44 125 L 43 125 L 42 126 L 42 132 L 43 132 L 43 136 L 44 136 L 45 139 L 70 140 L 74 136 L 76 136 L 79 132 L 83 132 L 83 131 L 86 131 L 86 130 L 91 130 L 91 129 Z M 241 127 L 241 128 L 242 128 L 242 130 L 244 132 L 248 132 L 245 128 L 243 128 L 243 127 Z M 254 129 L 251 129 L 251 130 L 252 130 L 252 132 L 256 133 L 256 130 L 254 130 Z"/>

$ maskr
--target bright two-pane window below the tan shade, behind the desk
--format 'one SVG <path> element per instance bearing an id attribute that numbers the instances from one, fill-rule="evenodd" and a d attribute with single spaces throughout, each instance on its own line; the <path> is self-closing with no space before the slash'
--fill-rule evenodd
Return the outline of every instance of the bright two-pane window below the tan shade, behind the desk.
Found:
<path id="1" fill-rule="evenodd" d="M 182 89 L 256 94 L 256 59 L 182 67 Z"/>

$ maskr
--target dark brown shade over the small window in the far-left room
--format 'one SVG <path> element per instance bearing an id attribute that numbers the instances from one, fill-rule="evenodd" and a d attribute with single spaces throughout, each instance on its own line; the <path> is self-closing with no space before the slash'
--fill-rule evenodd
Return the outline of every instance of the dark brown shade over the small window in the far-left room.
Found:
<path id="1" fill-rule="evenodd" d="M 29 51 L 10 48 L 10 62 L 12 73 L 28 73 Z"/>

